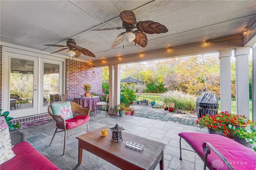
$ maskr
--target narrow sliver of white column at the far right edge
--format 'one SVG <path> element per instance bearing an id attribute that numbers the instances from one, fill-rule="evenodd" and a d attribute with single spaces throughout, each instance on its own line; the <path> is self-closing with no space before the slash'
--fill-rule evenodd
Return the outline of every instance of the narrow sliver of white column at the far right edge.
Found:
<path id="1" fill-rule="evenodd" d="M 252 120 L 256 122 L 256 44 L 252 46 Z"/>

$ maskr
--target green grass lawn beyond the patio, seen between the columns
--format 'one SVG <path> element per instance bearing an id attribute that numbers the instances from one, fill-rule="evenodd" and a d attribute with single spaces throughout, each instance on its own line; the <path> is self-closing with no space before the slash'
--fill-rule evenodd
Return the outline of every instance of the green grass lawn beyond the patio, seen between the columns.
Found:
<path id="1" fill-rule="evenodd" d="M 153 100 L 156 100 L 156 103 L 162 103 L 162 93 L 142 93 L 139 96 L 139 100 L 146 99 L 148 102 L 152 102 Z M 250 106 L 250 119 L 252 119 L 252 100 L 250 99 L 249 101 L 249 106 Z M 232 113 L 236 113 L 236 100 L 231 101 L 231 108 L 232 108 Z M 219 100 L 219 108 L 218 112 L 220 112 L 220 100 Z M 239 113 L 242 114 L 242 113 Z"/>

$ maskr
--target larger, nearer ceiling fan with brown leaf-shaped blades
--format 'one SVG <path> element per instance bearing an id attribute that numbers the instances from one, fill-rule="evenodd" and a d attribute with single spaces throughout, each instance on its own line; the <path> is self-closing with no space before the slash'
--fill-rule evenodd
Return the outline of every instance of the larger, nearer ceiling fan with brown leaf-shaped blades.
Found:
<path id="1" fill-rule="evenodd" d="M 134 12 L 129 10 L 124 10 L 123 12 L 121 12 L 119 17 L 123 22 L 122 27 L 118 26 L 114 28 L 102 28 L 102 29 L 92 30 L 92 31 L 102 31 L 102 30 L 126 29 L 125 32 L 122 32 L 117 36 L 111 48 L 114 48 L 115 46 L 120 44 L 124 40 L 124 37 L 126 37 L 129 42 L 134 41 L 139 46 L 146 47 L 146 45 L 148 44 L 148 38 L 145 33 L 160 34 L 160 33 L 168 32 L 168 29 L 166 28 L 166 26 L 158 22 L 147 20 L 147 21 L 140 21 L 137 23 Z M 137 30 L 133 30 L 134 28 L 137 28 Z"/>

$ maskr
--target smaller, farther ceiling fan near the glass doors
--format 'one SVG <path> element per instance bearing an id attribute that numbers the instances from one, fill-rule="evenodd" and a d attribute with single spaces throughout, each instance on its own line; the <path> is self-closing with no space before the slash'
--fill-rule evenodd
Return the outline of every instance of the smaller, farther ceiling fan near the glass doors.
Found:
<path id="1" fill-rule="evenodd" d="M 55 52 L 52 52 L 52 53 L 61 52 L 61 51 L 64 51 L 66 49 L 69 49 L 67 51 L 67 53 L 68 53 L 68 56 L 70 56 L 70 57 L 74 56 L 74 57 L 78 58 L 78 57 L 81 56 L 81 53 L 86 55 L 86 56 L 95 57 L 95 55 L 92 52 L 90 52 L 89 50 L 87 50 L 86 48 L 82 48 L 80 46 L 77 46 L 75 40 L 72 39 L 72 38 L 69 38 L 67 40 L 67 45 L 66 46 L 55 45 L 55 44 L 44 44 L 44 45 L 45 46 L 52 46 L 52 47 L 67 47 L 67 48 L 62 48 L 62 49 L 60 49 L 58 51 L 55 51 Z M 52 53 L 50 53 L 50 54 L 52 54 Z"/>

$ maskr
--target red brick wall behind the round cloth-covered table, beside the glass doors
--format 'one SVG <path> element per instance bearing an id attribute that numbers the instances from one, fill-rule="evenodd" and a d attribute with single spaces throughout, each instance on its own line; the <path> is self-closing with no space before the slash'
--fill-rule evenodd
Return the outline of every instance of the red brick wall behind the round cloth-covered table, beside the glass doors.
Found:
<path id="1" fill-rule="evenodd" d="M 92 78 L 92 72 L 96 77 Z M 83 85 L 90 84 L 96 94 L 102 95 L 102 68 L 90 68 L 90 63 L 66 60 L 66 94 L 68 100 L 84 94 Z"/>

